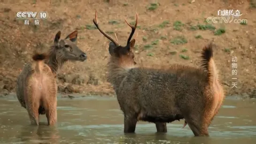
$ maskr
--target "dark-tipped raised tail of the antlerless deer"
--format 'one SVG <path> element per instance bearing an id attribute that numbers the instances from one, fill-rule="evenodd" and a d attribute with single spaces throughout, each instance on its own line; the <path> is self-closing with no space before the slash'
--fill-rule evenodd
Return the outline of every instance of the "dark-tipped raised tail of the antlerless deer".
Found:
<path id="1" fill-rule="evenodd" d="M 41 73 L 42 66 L 44 64 L 44 60 L 47 59 L 48 55 L 47 53 L 35 53 L 32 56 L 32 59 L 36 62 L 35 71 L 37 73 Z"/>

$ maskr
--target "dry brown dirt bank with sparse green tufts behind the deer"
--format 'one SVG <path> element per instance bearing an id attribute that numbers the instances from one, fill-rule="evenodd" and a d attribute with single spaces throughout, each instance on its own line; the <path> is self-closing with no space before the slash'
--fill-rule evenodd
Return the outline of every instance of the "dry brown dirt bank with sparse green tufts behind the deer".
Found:
<path id="1" fill-rule="evenodd" d="M 3 2 L 5 1 L 5 2 Z M 68 62 L 58 75 L 58 91 L 113 95 L 106 82 L 106 64 L 109 58 L 108 39 L 95 30 L 93 16 L 98 11 L 101 28 L 121 44 L 125 44 L 135 12 L 139 26 L 135 32 L 135 59 L 148 64 L 182 63 L 198 65 L 203 45 L 214 40 L 219 74 L 227 95 L 256 96 L 256 4 L 238 0 L 23 0 L 0 2 L 0 93 L 15 91 L 16 77 L 26 62 L 31 61 L 35 48 L 47 48 L 54 35 L 62 31 L 62 38 L 78 30 L 78 46 L 88 55 L 85 62 Z M 118 1 L 118 2 L 117 2 Z M 151 2 L 155 0 L 151 0 Z M 240 19 L 248 23 L 206 23 L 209 16 L 217 16 L 221 9 L 240 10 Z M 19 11 L 47 11 L 47 20 L 39 25 L 31 21 L 24 25 L 16 20 Z M 237 60 L 237 76 L 232 75 L 232 56 Z M 237 80 L 232 79 L 237 77 Z M 237 82 L 238 88 L 232 88 Z"/>

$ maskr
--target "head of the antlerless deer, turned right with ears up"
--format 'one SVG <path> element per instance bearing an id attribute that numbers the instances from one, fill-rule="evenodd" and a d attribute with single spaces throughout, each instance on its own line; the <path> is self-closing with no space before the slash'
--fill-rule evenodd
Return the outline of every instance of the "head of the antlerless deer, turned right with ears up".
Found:
<path id="1" fill-rule="evenodd" d="M 65 61 L 85 61 L 87 59 L 84 53 L 77 46 L 78 31 L 75 30 L 66 38 L 61 39 L 61 31 L 58 31 L 54 38 L 54 46 L 57 54 Z"/>

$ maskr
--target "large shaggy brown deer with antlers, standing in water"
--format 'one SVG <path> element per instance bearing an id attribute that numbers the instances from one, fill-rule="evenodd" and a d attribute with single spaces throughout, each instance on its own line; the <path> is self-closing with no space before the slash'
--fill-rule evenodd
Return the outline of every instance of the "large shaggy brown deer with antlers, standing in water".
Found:
<path id="1" fill-rule="evenodd" d="M 93 22 L 100 30 L 96 16 Z M 135 39 L 130 41 L 132 34 L 126 46 L 109 38 L 112 42 L 108 81 L 113 84 L 124 113 L 124 132 L 134 132 L 137 121 L 154 122 L 157 132 L 167 132 L 166 122 L 185 119 L 194 136 L 209 136 L 209 124 L 224 99 L 212 59 L 212 45 L 202 50 L 199 68 L 178 64 L 149 68 L 136 65 L 132 53 Z"/>

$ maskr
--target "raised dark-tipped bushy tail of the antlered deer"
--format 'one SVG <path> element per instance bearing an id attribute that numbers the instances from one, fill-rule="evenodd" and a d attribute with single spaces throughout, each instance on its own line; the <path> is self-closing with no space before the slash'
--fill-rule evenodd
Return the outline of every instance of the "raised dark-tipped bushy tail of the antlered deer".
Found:
<path id="1" fill-rule="evenodd" d="M 209 84 L 214 83 L 218 79 L 218 72 L 213 60 L 213 44 L 204 46 L 202 50 L 202 65 L 201 67 L 208 72 L 208 82 Z"/>

